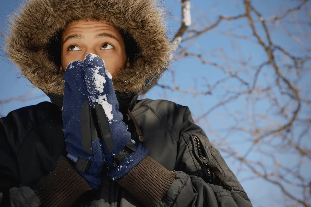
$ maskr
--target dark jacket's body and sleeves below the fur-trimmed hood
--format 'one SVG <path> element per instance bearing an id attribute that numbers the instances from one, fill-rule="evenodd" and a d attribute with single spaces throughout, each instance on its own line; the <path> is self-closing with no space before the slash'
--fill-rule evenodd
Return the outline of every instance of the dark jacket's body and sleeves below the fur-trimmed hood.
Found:
<path id="1" fill-rule="evenodd" d="M 57 194 L 54 199 L 71 199 L 71 203 L 76 200 L 75 206 L 252 206 L 219 151 L 211 145 L 203 130 L 194 124 L 188 107 L 165 100 L 144 99 L 132 103 L 135 104 L 130 105 L 129 109 L 143 134 L 145 141 L 142 145 L 148 150 L 148 159 L 156 167 L 150 167 L 143 173 L 138 169 L 138 179 L 130 180 L 130 185 L 114 182 L 103 172 L 100 189 L 90 190 L 84 186 L 83 195 L 78 200 L 73 198 L 81 193 L 73 189 L 82 189 L 82 182 L 73 180 L 65 190 L 64 186 L 61 187 L 62 192 L 57 189 L 65 182 L 64 179 L 77 176 L 66 163 L 63 164 L 65 167 L 59 167 L 59 158 L 66 155 L 60 108 L 50 102 L 41 102 L 1 118 L 0 205 L 69 205 L 69 201 L 62 204 L 46 201 L 50 194 Z M 130 119 L 124 113 L 132 139 L 139 142 Z M 60 176 L 68 172 L 72 173 L 69 178 Z M 172 182 L 166 183 L 167 187 L 163 187 L 165 184 L 162 183 L 153 189 L 157 186 L 154 184 L 158 182 L 156 179 L 165 180 L 161 176 L 169 173 L 174 173 Z M 53 182 L 53 190 L 45 191 L 48 195 L 42 196 L 40 189 L 48 181 Z M 77 186 L 75 183 L 82 184 Z M 165 192 L 159 200 L 157 195 L 160 190 Z"/>

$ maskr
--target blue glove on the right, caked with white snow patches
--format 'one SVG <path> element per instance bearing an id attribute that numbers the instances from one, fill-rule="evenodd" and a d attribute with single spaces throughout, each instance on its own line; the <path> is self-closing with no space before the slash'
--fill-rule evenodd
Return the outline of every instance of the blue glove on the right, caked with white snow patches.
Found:
<path id="1" fill-rule="evenodd" d="M 95 108 L 105 161 L 109 166 L 108 175 L 117 180 L 127 174 L 147 155 L 141 144 L 131 140 L 131 133 L 122 121 L 119 103 L 112 85 L 112 76 L 105 70 L 103 60 L 94 54 L 84 59 L 86 86 L 91 106 Z"/>

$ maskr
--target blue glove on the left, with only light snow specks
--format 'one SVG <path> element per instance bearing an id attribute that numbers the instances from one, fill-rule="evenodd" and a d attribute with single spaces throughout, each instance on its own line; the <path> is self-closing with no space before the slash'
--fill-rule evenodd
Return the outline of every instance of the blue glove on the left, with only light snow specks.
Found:
<path id="1" fill-rule="evenodd" d="M 89 106 L 83 62 L 71 62 L 65 70 L 64 80 L 63 131 L 67 157 L 76 163 L 75 169 L 89 185 L 97 189 L 101 183 L 99 174 L 104 154 Z"/>

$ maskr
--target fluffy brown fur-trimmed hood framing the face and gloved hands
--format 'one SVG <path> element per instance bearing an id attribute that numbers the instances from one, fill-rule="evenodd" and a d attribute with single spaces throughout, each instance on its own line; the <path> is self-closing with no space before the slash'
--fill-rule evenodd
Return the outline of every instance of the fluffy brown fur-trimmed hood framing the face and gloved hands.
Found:
<path id="1" fill-rule="evenodd" d="M 60 59 L 51 52 L 58 34 L 73 20 L 106 20 L 129 34 L 139 51 L 113 79 L 114 89 L 139 93 L 169 64 L 172 49 L 163 16 L 153 0 L 30 0 L 12 15 L 5 49 L 35 87 L 61 95 L 63 71 Z M 60 47 L 56 49 L 60 57 Z"/>

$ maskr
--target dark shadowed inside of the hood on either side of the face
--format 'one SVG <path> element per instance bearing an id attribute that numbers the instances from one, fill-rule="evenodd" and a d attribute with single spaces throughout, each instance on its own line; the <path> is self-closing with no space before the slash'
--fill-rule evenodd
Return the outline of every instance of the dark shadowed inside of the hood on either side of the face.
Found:
<path id="1" fill-rule="evenodd" d="M 117 28 L 118 29 L 118 28 Z M 134 62 L 136 61 L 137 57 L 139 57 L 140 49 L 138 47 L 137 42 L 134 40 L 132 35 L 130 35 L 127 31 L 123 31 L 118 29 L 120 32 L 123 42 L 125 45 L 125 54 L 128 57 L 130 66 L 133 66 Z M 63 31 L 56 32 L 53 37 L 50 39 L 49 44 L 47 46 L 49 59 L 53 61 L 55 65 L 61 68 L 62 61 L 62 52 L 61 52 L 61 41 L 62 41 L 62 34 Z M 124 66 L 125 68 L 125 66 Z"/>

